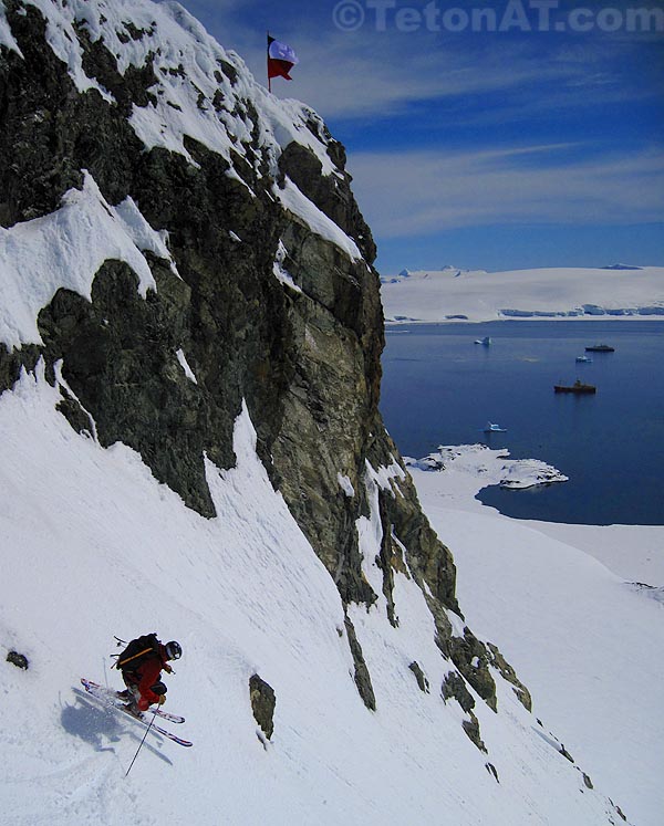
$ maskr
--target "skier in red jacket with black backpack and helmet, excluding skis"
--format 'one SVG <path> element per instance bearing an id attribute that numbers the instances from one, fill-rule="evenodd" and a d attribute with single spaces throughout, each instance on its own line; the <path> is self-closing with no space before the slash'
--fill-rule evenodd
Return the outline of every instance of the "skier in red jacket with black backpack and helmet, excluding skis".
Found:
<path id="1" fill-rule="evenodd" d="M 127 687 L 120 692 L 123 700 L 128 700 L 126 710 L 138 715 L 153 703 L 163 705 L 166 702 L 166 686 L 162 682 L 162 669 L 172 673 L 168 660 L 181 657 L 179 642 L 172 640 L 164 645 L 156 634 L 147 634 L 133 639 L 117 658 L 115 667 L 122 671 Z"/>

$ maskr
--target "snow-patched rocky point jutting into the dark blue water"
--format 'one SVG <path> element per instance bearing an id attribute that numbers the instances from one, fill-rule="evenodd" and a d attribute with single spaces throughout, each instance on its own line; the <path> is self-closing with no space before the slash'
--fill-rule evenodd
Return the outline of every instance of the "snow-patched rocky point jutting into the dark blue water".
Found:
<path id="1" fill-rule="evenodd" d="M 525 489 L 538 484 L 567 482 L 569 477 L 539 459 L 508 459 L 509 450 L 494 450 L 486 445 L 440 446 L 424 459 L 405 458 L 408 467 L 444 472 L 449 488 L 471 487 L 475 492 L 492 484 Z M 442 489 L 442 490 L 444 490 Z M 445 495 L 443 493 L 443 495 Z"/>

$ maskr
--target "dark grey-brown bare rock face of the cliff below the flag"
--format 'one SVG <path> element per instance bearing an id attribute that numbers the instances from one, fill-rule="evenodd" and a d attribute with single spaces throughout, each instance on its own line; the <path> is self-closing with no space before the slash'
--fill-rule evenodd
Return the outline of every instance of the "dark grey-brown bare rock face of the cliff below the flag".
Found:
<path id="1" fill-rule="evenodd" d="M 454 696 L 470 697 L 467 681 L 495 709 L 489 666 L 520 683 L 497 650 L 467 629 L 461 638 L 453 635 L 448 611 L 463 616 L 453 557 L 422 513 L 378 412 L 384 336 L 375 244 L 341 144 L 301 107 L 298 129 L 307 139 L 277 149 L 264 137 L 258 93 L 247 92 L 258 87 L 240 61 L 218 57 L 218 87 L 197 88 L 196 106 L 228 125 L 229 148 L 215 151 L 188 135 L 177 150 L 148 146 L 133 118 L 156 111 L 166 94 L 163 79 L 188 82 L 181 63 L 165 63 L 156 23 L 125 21 L 115 32 L 121 44 L 149 45 L 141 65 L 121 69 L 104 36 L 93 36 L 90 21 L 96 14 L 102 25 L 103 14 L 91 2 L 71 35 L 94 80 L 82 91 L 48 45 L 41 12 L 20 0 L 4 7 L 20 53 L 0 48 L 0 223 L 49 216 L 89 175 L 108 205 L 131 198 L 152 228 L 167 233 L 177 272 L 145 252 L 156 284 L 145 297 L 136 273 L 113 259 L 94 274 L 90 300 L 58 290 L 39 314 L 41 343 L 0 344 L 0 393 L 43 358 L 61 387 L 59 410 L 74 429 L 102 446 L 134 448 L 159 481 L 207 517 L 216 513 L 204 457 L 220 468 L 235 464 L 232 427 L 246 401 L 270 479 L 346 607 L 369 608 L 378 597 L 363 573 L 356 526 L 372 513 L 367 468 L 397 467 L 398 479 L 377 491 L 387 619 L 398 626 L 400 572 L 422 588 L 438 648 L 460 672 Z M 320 216 L 315 227 L 288 206 L 289 187 Z M 318 231 L 321 221 L 345 233 L 357 254 L 334 232 Z M 375 709 L 347 614 L 346 638 L 360 696 Z M 422 688 L 425 678 L 416 677 Z"/>

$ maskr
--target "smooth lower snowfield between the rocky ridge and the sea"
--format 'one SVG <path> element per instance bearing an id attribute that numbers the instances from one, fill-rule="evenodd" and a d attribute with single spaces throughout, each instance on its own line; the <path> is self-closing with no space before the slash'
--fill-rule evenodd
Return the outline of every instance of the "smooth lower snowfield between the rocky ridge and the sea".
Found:
<path id="1" fill-rule="evenodd" d="M 533 691 L 533 714 L 553 726 L 580 765 L 592 766 L 593 781 L 612 790 L 634 823 L 657 826 L 664 812 L 664 527 L 504 516 L 474 499 L 497 481 L 504 463 L 500 451 L 478 453 L 478 447 L 444 449 L 464 459 L 442 471 L 411 467 L 425 512 L 454 551 L 468 624 L 496 636 Z M 621 547 L 625 539 L 630 544 Z"/>

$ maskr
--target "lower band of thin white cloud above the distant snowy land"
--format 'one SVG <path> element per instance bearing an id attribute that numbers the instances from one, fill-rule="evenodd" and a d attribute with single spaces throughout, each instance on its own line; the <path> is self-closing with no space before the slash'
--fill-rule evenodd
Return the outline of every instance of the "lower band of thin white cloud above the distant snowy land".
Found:
<path id="1" fill-rule="evenodd" d="M 578 154 L 571 145 L 359 153 L 351 158 L 351 171 L 376 236 L 404 238 L 492 223 L 662 220 L 664 155 L 652 150 L 580 159 Z"/>

